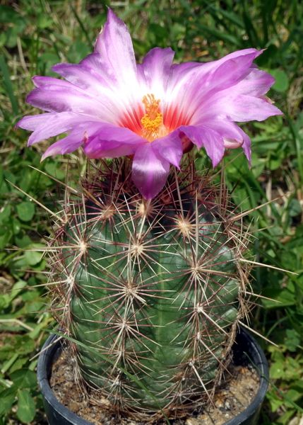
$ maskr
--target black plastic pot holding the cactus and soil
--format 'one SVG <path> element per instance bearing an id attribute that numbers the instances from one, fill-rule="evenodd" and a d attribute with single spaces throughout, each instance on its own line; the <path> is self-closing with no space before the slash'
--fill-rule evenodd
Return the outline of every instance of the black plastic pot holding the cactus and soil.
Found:
<path id="1" fill-rule="evenodd" d="M 37 378 L 42 391 L 44 409 L 50 425 L 93 425 L 91 422 L 81 419 L 61 404 L 49 386 L 49 377 L 52 371 L 52 363 L 61 352 L 61 342 L 57 336 L 49 336 L 45 342 L 37 365 Z M 268 363 L 263 351 L 255 339 L 245 329 L 241 329 L 237 335 L 236 344 L 233 347 L 234 362 L 239 365 L 251 363 L 259 373 L 260 387 L 256 397 L 251 401 L 242 413 L 235 416 L 225 425 L 254 425 L 258 422 L 259 412 L 268 387 Z"/>

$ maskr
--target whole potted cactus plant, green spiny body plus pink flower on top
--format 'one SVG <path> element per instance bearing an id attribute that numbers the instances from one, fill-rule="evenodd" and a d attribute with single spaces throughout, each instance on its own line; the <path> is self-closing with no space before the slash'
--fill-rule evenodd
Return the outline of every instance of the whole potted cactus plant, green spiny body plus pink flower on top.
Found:
<path id="1" fill-rule="evenodd" d="M 18 123 L 29 145 L 68 133 L 43 158 L 82 147 L 93 171 L 66 193 L 53 239 L 52 306 L 81 382 L 119 412 L 153 418 L 209 402 L 230 359 L 248 271 L 241 215 L 223 183 L 199 174 L 248 135 L 237 121 L 280 111 L 256 49 L 173 64 L 156 47 L 136 64 L 109 10 L 93 54 L 34 77 L 27 101 L 44 113 Z M 120 157 L 123 157 L 120 159 Z"/>

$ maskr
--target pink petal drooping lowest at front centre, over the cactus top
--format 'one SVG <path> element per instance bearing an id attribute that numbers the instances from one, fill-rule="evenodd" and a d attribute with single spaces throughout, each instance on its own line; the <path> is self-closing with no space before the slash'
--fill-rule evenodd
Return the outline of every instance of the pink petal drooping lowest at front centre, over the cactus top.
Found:
<path id="1" fill-rule="evenodd" d="M 153 149 L 153 143 L 138 147 L 133 157 L 132 179 L 146 199 L 161 191 L 170 172 L 170 163 Z"/>

